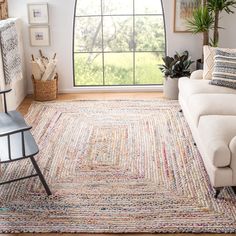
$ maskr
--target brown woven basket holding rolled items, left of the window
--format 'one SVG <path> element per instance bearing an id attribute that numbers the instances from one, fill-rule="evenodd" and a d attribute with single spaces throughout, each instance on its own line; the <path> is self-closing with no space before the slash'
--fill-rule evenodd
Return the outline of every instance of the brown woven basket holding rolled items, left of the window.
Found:
<path id="1" fill-rule="evenodd" d="M 57 98 L 58 94 L 58 75 L 53 80 L 36 80 L 32 75 L 34 86 L 34 99 L 36 101 L 52 101 Z"/>

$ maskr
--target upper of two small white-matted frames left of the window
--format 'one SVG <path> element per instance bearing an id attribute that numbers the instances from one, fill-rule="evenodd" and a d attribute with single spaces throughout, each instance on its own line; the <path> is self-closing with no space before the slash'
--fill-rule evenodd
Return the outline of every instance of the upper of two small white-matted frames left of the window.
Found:
<path id="1" fill-rule="evenodd" d="M 28 21 L 31 25 L 49 24 L 48 3 L 28 4 Z"/>

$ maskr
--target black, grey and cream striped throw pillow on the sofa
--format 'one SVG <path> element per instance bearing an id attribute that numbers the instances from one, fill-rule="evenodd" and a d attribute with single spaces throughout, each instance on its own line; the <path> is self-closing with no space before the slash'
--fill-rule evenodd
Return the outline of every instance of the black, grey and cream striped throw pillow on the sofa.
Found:
<path id="1" fill-rule="evenodd" d="M 210 84 L 236 89 L 236 53 L 216 50 Z"/>

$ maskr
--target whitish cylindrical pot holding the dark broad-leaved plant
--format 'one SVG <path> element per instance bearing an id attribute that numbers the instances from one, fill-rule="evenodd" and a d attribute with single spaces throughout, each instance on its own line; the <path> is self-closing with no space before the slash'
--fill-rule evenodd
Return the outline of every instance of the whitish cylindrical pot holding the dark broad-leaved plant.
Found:
<path id="1" fill-rule="evenodd" d="M 166 77 L 164 80 L 164 96 L 171 100 L 178 100 L 179 96 L 179 79 Z"/>

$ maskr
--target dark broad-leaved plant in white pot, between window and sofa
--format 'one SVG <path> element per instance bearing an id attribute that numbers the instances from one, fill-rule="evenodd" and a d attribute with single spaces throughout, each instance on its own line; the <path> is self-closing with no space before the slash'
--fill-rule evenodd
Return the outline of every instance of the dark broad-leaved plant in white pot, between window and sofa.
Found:
<path id="1" fill-rule="evenodd" d="M 159 69 L 165 76 L 163 91 L 168 99 L 176 100 L 179 95 L 178 79 L 180 77 L 190 76 L 190 65 L 193 63 L 189 57 L 188 51 L 174 57 L 165 56 L 162 58 L 164 64 L 159 65 Z"/>

